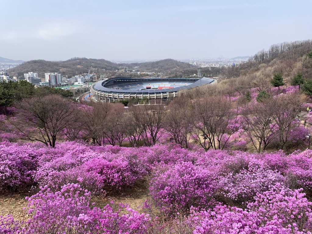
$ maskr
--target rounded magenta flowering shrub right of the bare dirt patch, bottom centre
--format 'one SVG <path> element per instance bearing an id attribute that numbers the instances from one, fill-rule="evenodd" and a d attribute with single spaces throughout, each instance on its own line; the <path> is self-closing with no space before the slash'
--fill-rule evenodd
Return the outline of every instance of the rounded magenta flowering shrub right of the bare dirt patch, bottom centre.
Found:
<path id="1" fill-rule="evenodd" d="M 170 213 L 208 207 L 216 189 L 213 173 L 189 162 L 155 171 L 149 186 L 156 206 Z"/>

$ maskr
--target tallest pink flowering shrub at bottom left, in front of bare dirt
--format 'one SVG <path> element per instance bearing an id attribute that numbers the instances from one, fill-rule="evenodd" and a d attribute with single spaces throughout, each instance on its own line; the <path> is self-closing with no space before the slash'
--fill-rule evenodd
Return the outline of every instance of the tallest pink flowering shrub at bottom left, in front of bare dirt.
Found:
<path id="1" fill-rule="evenodd" d="M 28 200 L 28 213 L 32 218 L 27 222 L 34 233 L 62 233 L 78 225 L 80 214 L 90 211 L 91 193 L 78 184 L 68 184 L 61 191 L 51 192 L 47 186 Z"/>

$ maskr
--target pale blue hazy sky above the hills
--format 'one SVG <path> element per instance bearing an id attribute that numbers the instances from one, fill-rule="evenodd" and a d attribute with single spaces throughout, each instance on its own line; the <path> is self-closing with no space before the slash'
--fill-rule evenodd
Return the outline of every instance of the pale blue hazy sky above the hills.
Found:
<path id="1" fill-rule="evenodd" d="M 252 56 L 312 39 L 311 0 L 0 0 L 0 56 L 110 61 Z"/>

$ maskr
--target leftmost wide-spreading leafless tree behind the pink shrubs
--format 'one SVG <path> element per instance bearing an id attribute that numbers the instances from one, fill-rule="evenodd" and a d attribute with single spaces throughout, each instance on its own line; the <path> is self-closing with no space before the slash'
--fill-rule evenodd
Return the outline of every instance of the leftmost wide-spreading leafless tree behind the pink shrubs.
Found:
<path id="1" fill-rule="evenodd" d="M 17 115 L 8 119 L 2 130 L 11 139 L 40 141 L 54 148 L 62 129 L 75 125 L 77 105 L 58 95 L 25 99 L 16 104 Z"/>

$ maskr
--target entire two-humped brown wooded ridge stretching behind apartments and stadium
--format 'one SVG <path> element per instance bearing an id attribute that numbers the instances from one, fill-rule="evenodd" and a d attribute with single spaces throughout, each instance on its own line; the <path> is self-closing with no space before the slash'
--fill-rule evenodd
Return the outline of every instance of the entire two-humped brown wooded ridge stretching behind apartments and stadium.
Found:
<path id="1" fill-rule="evenodd" d="M 58 72 L 65 76 L 75 76 L 82 73 L 88 73 L 88 70 L 90 69 L 91 73 L 96 73 L 97 75 L 111 73 L 110 75 L 113 76 L 115 70 L 122 70 L 124 67 L 128 67 L 129 70 L 135 69 L 139 71 L 165 72 L 168 70 L 187 69 L 193 67 L 193 65 L 173 59 L 145 63 L 116 64 L 104 59 L 72 58 L 66 61 L 57 62 L 31 60 L 7 71 L 11 76 L 24 76 L 24 73 L 32 71 L 37 72 L 39 77 L 44 77 L 44 73 L 46 72 Z"/>

